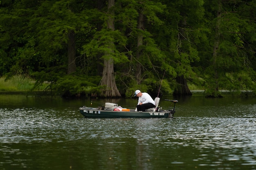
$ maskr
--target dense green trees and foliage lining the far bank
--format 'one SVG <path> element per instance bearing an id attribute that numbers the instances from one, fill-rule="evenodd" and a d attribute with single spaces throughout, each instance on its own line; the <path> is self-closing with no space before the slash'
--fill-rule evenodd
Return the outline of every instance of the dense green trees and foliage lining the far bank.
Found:
<path id="1" fill-rule="evenodd" d="M 0 76 L 34 89 L 256 90 L 256 0 L 0 0 Z"/>

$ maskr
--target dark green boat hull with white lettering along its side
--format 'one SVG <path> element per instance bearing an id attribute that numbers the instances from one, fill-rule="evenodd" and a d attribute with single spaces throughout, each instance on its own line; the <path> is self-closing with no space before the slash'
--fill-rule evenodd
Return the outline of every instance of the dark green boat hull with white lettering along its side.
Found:
<path id="1" fill-rule="evenodd" d="M 139 111 L 109 111 L 79 108 L 86 118 L 172 118 L 172 111 L 139 112 Z"/>

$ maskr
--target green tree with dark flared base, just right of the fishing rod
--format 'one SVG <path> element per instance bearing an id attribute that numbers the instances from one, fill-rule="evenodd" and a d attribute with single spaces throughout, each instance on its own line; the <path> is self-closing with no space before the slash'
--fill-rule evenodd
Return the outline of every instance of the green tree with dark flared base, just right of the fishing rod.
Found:
<path id="1" fill-rule="evenodd" d="M 200 60 L 198 44 L 202 41 L 203 1 L 161 2 L 166 4 L 161 15 L 164 25 L 157 29 L 155 39 L 167 56 L 164 62 L 175 69 L 170 69 L 166 78 L 171 82 L 173 94 L 191 95 L 187 81 L 198 81 L 193 63 Z"/>

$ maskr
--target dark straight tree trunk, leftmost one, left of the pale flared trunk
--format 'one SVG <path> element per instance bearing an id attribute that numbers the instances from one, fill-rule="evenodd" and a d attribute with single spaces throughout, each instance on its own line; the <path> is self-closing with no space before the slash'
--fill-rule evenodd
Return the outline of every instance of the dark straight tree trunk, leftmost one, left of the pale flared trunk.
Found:
<path id="1" fill-rule="evenodd" d="M 68 44 L 67 44 L 67 55 L 68 55 L 68 63 L 67 63 L 67 74 L 71 74 L 76 71 L 76 47 L 75 47 L 75 33 L 74 31 L 70 31 L 68 35 Z"/>

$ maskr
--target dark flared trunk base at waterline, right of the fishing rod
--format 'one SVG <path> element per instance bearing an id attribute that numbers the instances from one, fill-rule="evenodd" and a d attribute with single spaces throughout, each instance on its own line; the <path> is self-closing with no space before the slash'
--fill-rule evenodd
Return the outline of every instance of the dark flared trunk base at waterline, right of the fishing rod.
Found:
<path id="1" fill-rule="evenodd" d="M 177 88 L 175 88 L 173 95 L 184 95 L 184 96 L 192 95 L 184 76 L 176 77 L 176 82 L 178 83 L 178 86 Z"/>

